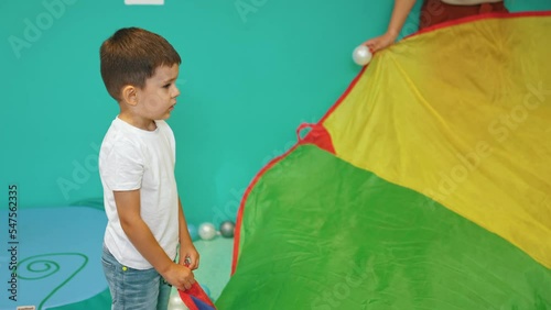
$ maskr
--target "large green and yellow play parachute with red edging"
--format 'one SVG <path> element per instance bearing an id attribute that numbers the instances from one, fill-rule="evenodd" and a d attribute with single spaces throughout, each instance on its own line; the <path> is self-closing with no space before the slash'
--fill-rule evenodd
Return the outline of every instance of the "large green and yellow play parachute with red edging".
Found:
<path id="1" fill-rule="evenodd" d="M 551 13 L 415 34 L 249 187 L 218 309 L 551 309 Z"/>

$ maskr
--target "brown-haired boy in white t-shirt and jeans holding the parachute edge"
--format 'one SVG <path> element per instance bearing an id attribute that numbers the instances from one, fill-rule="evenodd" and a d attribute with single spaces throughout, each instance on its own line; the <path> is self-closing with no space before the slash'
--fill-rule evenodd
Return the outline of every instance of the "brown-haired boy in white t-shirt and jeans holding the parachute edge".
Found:
<path id="1" fill-rule="evenodd" d="M 165 310 L 171 285 L 185 290 L 195 283 L 199 255 L 177 195 L 174 135 L 164 121 L 180 95 L 180 64 L 169 42 L 142 29 L 121 29 L 100 47 L 101 78 L 120 108 L 99 152 L 108 218 L 101 263 L 112 309 Z"/>

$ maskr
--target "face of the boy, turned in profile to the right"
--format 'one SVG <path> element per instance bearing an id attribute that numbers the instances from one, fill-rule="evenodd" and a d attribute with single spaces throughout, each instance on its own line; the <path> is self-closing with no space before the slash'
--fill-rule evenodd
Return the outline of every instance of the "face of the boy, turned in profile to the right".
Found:
<path id="1" fill-rule="evenodd" d="M 161 66 L 145 80 L 142 89 L 137 89 L 137 109 L 147 120 L 166 120 L 176 104 L 180 90 L 176 88 L 179 65 Z"/>

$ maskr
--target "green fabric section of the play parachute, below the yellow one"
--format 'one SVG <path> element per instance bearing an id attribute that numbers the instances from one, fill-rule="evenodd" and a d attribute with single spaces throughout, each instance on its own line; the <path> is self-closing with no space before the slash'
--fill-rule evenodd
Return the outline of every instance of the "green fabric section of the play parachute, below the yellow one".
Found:
<path id="1" fill-rule="evenodd" d="M 311 145 L 262 175 L 219 309 L 548 309 L 551 272 L 410 189 Z"/>

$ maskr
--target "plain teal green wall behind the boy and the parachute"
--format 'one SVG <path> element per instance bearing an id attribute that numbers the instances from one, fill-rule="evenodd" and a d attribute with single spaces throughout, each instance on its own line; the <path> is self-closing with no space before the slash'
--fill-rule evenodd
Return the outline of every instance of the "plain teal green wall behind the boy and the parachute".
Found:
<path id="1" fill-rule="evenodd" d="M 548 0 L 508 4 L 511 11 L 551 9 Z M 295 129 L 316 122 L 358 74 L 352 51 L 383 32 L 391 7 L 370 0 L 1 1 L 2 208 L 10 184 L 19 187 L 20 208 L 101 196 L 98 147 L 118 110 L 99 76 L 98 49 L 117 29 L 140 26 L 165 36 L 183 57 L 182 96 L 169 122 L 187 219 L 234 219 L 259 169 L 292 146 Z M 417 16 L 402 35 L 414 31 Z"/>

